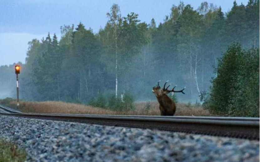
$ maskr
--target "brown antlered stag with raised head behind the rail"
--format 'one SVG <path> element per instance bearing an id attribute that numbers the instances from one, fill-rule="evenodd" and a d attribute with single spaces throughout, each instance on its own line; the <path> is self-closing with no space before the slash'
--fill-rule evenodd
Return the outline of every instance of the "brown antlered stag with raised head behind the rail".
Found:
<path id="1" fill-rule="evenodd" d="M 160 104 L 159 109 L 160 109 L 160 112 L 161 112 L 161 116 L 173 116 L 175 111 L 176 111 L 176 106 L 175 106 L 174 101 L 172 101 L 172 99 L 170 97 L 168 97 L 167 94 L 170 93 L 170 92 L 182 92 L 183 94 L 185 94 L 183 92 L 183 90 L 186 87 L 184 87 L 180 91 L 175 91 L 174 90 L 174 88 L 176 86 L 174 86 L 172 90 L 168 90 L 170 84 L 169 84 L 169 86 L 167 86 L 165 88 L 165 86 L 166 86 L 166 84 L 168 82 L 168 81 L 166 81 L 164 83 L 164 88 L 161 89 L 161 87 L 159 85 L 159 82 L 160 81 L 158 81 L 157 86 L 153 87 L 152 92 L 155 94 L 155 96 L 156 96 L 156 98 L 157 98 L 157 100 L 158 100 L 158 102 Z"/>

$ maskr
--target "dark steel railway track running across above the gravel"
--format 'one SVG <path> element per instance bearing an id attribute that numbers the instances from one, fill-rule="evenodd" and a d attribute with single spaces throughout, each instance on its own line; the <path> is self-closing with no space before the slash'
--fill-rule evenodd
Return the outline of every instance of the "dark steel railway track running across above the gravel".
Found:
<path id="1" fill-rule="evenodd" d="M 21 113 L 2 105 L 0 115 L 259 140 L 259 118 L 38 114 Z"/>

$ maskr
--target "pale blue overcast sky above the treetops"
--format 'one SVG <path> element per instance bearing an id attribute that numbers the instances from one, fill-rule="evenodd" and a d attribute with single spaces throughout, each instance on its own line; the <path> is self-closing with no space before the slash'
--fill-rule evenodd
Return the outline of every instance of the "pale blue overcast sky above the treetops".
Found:
<path id="1" fill-rule="evenodd" d="M 184 0 L 197 9 L 205 0 Z M 233 5 L 233 0 L 207 0 L 221 6 L 224 13 Z M 237 0 L 247 4 L 248 0 Z M 169 15 L 172 5 L 179 0 L 0 0 L 0 65 L 18 61 L 25 62 L 28 42 L 34 38 L 56 33 L 60 38 L 60 26 L 77 25 L 82 22 L 87 29 L 97 33 L 107 23 L 106 13 L 113 3 L 119 5 L 122 16 L 134 12 L 141 22 L 156 24 Z"/>

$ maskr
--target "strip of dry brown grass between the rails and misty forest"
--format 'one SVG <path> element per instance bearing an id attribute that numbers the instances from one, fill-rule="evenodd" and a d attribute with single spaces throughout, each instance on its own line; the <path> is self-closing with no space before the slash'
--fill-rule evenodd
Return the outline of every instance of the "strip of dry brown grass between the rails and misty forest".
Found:
<path id="1" fill-rule="evenodd" d="M 16 105 L 16 102 L 10 102 Z M 176 116 L 213 116 L 202 107 L 192 106 L 185 103 L 176 104 Z M 112 111 L 98 107 L 86 106 L 75 103 L 46 101 L 46 102 L 22 102 L 22 112 L 30 113 L 64 113 L 64 114 L 108 114 L 108 115 L 160 115 L 158 102 L 137 102 L 135 110 L 122 112 Z"/>

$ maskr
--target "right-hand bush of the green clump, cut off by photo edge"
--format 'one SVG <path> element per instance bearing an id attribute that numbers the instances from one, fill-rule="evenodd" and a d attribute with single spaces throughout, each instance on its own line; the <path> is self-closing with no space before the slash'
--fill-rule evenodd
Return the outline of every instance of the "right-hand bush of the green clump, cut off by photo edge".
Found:
<path id="1" fill-rule="evenodd" d="M 230 101 L 231 116 L 259 117 L 259 50 L 245 51 Z"/>

